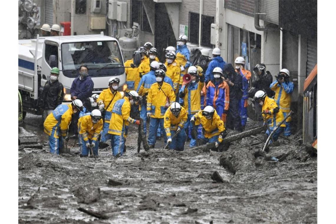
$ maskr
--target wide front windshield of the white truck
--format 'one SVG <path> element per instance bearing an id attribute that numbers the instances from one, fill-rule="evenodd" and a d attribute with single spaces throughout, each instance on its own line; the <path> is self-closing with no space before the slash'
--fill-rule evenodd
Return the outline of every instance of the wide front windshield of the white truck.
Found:
<path id="1" fill-rule="evenodd" d="M 64 43 L 61 45 L 61 55 L 62 71 L 67 77 L 78 76 L 82 64 L 88 66 L 89 75 L 93 77 L 124 73 L 117 41 Z M 102 67 L 104 68 L 99 70 Z"/>

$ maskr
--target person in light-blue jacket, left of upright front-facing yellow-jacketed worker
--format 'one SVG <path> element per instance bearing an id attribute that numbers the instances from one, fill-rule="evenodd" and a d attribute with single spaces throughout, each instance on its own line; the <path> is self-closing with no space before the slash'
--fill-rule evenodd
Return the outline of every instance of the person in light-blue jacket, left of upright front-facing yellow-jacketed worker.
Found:
<path id="1" fill-rule="evenodd" d="M 146 133 L 147 128 L 147 95 L 153 83 L 156 83 L 155 71 L 160 69 L 159 62 L 152 61 L 150 64 L 151 71 L 141 77 L 136 92 L 142 97 L 140 118 L 143 120 L 143 132 Z"/>

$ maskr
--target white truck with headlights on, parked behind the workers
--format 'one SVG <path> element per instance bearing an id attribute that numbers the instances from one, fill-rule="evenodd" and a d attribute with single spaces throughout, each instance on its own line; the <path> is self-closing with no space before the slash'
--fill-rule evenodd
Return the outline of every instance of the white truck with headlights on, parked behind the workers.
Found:
<path id="1" fill-rule="evenodd" d="M 120 79 L 119 91 L 126 90 L 124 60 L 118 40 L 100 35 L 37 37 L 19 40 L 18 89 L 22 96 L 24 117 L 27 112 L 41 115 L 38 100 L 50 70 L 59 68 L 58 80 L 64 86 L 64 102 L 71 102 L 70 88 L 79 76 L 79 68 L 89 69 L 94 87 L 92 93 L 108 88 L 111 77 Z"/>

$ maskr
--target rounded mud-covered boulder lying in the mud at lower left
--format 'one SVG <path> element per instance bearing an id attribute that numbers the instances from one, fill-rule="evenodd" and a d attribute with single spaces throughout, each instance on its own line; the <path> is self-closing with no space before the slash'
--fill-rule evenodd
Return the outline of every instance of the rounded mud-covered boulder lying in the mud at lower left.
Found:
<path id="1" fill-rule="evenodd" d="M 100 188 L 91 184 L 75 187 L 73 193 L 77 197 L 77 203 L 91 204 L 100 198 Z"/>

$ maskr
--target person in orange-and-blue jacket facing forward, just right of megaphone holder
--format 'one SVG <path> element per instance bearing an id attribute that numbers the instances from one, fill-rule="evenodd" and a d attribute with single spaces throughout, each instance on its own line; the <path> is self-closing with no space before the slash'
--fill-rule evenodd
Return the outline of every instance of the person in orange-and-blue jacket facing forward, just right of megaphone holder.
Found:
<path id="1" fill-rule="evenodd" d="M 229 109 L 229 87 L 223 81 L 223 71 L 216 67 L 212 71 L 214 79 L 209 81 L 207 86 L 203 87 L 203 92 L 206 95 L 206 106 L 212 106 L 216 109 L 217 114 L 222 121 L 226 122 L 226 114 Z"/>

